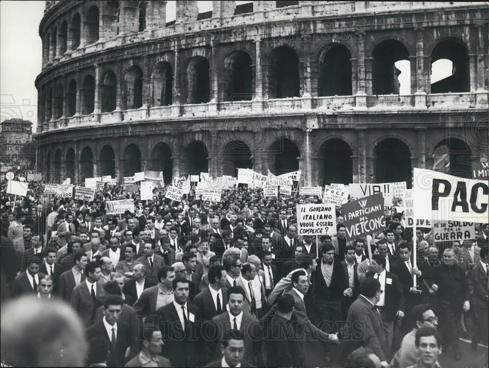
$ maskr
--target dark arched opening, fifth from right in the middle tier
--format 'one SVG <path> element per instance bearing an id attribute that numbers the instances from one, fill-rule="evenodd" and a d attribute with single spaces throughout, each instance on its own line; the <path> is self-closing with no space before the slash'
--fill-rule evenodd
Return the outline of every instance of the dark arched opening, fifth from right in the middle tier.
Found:
<path id="1" fill-rule="evenodd" d="M 247 52 L 236 51 L 224 60 L 222 77 L 225 101 L 250 101 L 253 98 L 253 70 Z"/>

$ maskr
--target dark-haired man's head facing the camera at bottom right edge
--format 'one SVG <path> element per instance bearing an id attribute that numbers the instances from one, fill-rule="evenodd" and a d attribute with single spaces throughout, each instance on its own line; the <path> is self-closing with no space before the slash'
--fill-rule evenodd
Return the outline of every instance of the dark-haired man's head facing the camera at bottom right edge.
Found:
<path id="1" fill-rule="evenodd" d="M 420 358 L 408 368 L 441 368 L 438 363 L 438 355 L 442 353 L 441 340 L 435 328 L 421 327 L 416 331 L 415 344 Z"/>

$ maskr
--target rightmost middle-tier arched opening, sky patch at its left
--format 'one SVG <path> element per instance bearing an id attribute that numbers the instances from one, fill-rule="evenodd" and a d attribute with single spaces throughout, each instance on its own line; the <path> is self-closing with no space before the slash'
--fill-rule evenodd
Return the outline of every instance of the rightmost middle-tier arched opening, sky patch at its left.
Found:
<path id="1" fill-rule="evenodd" d="M 470 69 L 467 48 L 461 40 L 449 38 L 437 43 L 431 52 L 431 75 L 439 73 L 441 65 L 438 60 L 451 61 L 451 74 L 442 80 L 431 83 L 431 93 L 468 92 L 470 91 Z M 445 63 L 445 66 L 448 66 Z"/>

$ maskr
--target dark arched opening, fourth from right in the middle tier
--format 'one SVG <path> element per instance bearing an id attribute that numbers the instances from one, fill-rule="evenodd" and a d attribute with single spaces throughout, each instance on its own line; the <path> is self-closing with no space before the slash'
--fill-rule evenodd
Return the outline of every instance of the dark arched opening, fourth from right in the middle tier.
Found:
<path id="1" fill-rule="evenodd" d="M 299 59 L 288 46 L 271 51 L 268 67 L 268 95 L 270 98 L 300 96 Z"/>

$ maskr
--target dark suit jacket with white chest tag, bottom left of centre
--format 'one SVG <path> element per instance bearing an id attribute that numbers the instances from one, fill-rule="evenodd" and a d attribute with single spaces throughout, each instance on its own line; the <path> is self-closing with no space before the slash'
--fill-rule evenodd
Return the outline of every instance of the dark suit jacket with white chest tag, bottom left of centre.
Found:
<path id="1" fill-rule="evenodd" d="M 196 367 L 203 363 L 200 311 L 195 305 L 187 303 L 186 312 L 189 318 L 184 327 L 174 303 L 164 305 L 155 312 L 165 343 L 164 355 L 175 367 Z M 194 321 L 191 321 L 190 314 L 194 315 Z"/>

